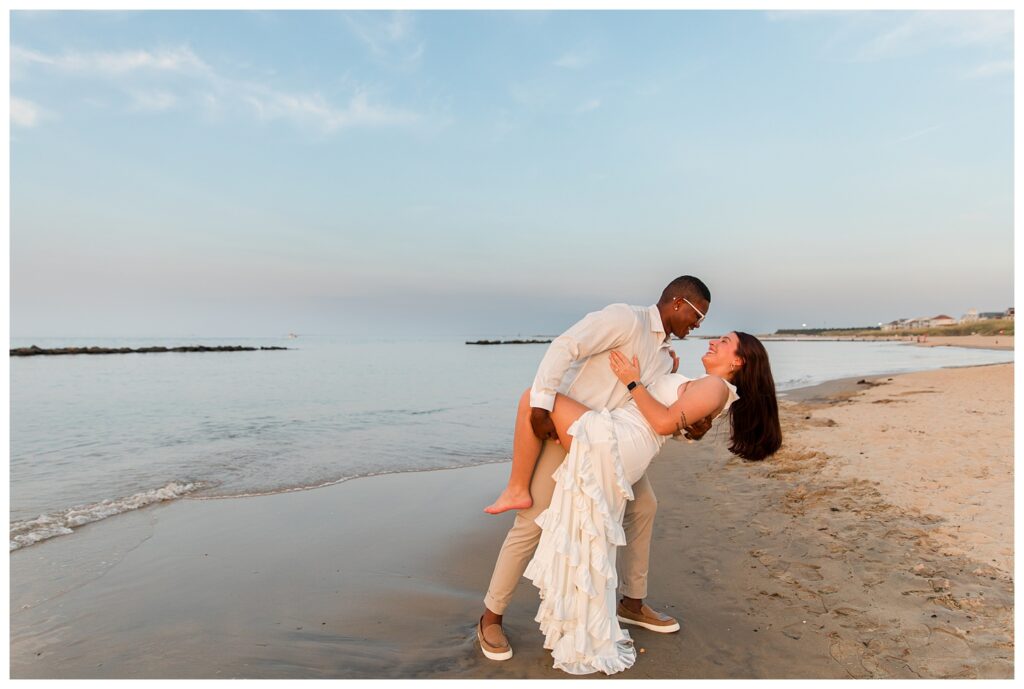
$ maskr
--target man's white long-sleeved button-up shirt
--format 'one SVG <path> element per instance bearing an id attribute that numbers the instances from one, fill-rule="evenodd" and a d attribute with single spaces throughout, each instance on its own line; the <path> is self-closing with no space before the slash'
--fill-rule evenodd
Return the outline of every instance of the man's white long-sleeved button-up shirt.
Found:
<path id="1" fill-rule="evenodd" d="M 613 410 L 629 398 L 608 365 L 608 354 L 617 349 L 628 359 L 640 361 L 644 385 L 672 371 L 669 335 L 657 306 L 611 304 L 588 313 L 559 335 L 544 354 L 529 393 L 529 405 L 548 410 L 561 392 L 593 410 Z"/>

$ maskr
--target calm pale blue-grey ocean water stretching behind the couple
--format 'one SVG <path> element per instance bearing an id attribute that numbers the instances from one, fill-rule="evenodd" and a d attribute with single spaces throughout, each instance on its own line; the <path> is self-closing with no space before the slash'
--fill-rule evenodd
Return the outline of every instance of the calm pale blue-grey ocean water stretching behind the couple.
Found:
<path id="1" fill-rule="evenodd" d="M 10 548 L 157 502 L 263 494 L 510 457 L 545 345 L 462 339 L 15 339 L 11 347 L 289 351 L 12 357 Z M 675 342 L 701 375 L 703 340 Z M 780 391 L 849 376 L 1012 361 L 899 343 L 767 342 Z"/>

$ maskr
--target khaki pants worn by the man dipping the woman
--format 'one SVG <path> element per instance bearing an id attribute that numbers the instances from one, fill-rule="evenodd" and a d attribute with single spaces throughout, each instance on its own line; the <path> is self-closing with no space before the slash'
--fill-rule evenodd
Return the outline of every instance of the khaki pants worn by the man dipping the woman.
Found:
<path id="1" fill-rule="evenodd" d="M 529 485 L 534 506 L 516 515 L 515 523 L 498 553 L 495 573 L 490 575 L 490 586 L 483 598 L 483 604 L 496 614 L 505 614 L 505 608 L 541 541 L 541 527 L 534 520 L 551 504 L 551 493 L 555 489 L 551 475 L 564 459 L 565 451 L 561 445 L 550 441 L 544 443 Z M 633 484 L 633 497 L 626 504 L 626 516 L 623 518 L 626 546 L 617 558 L 618 592 L 628 598 L 646 598 L 650 535 L 654 513 L 657 512 L 657 499 L 646 474 Z"/>

